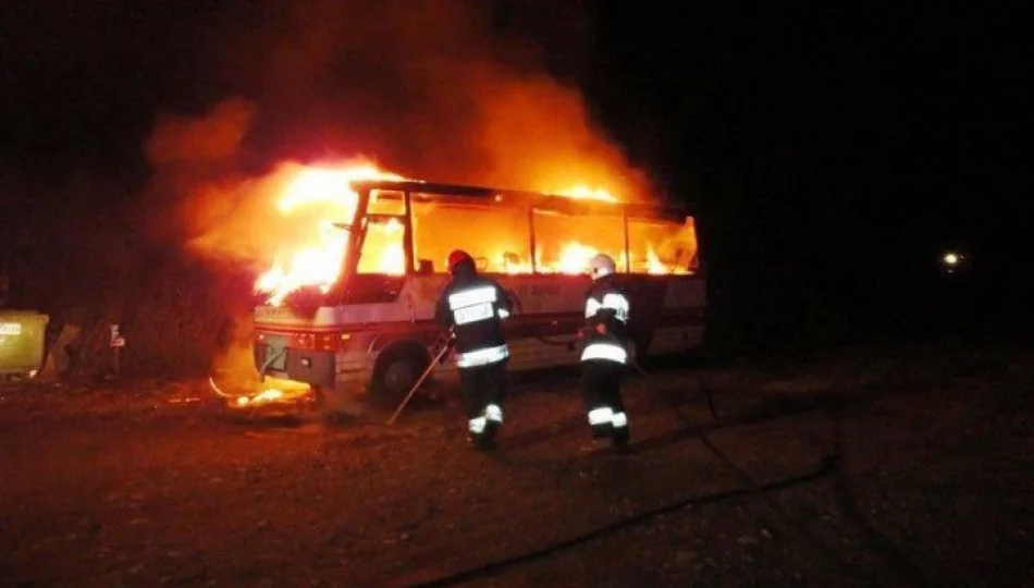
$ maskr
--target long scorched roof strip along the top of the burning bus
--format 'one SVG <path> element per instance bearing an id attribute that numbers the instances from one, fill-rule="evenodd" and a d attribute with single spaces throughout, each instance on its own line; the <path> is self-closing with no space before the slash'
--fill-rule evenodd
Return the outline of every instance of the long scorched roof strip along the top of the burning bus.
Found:
<path id="1" fill-rule="evenodd" d="M 491 188 L 465 184 L 440 184 L 419 181 L 365 180 L 352 183 L 353 189 L 378 189 L 385 192 L 408 192 L 445 197 L 460 197 L 491 204 L 498 197 L 516 198 L 537 210 L 550 210 L 571 216 L 588 215 L 627 215 L 635 219 L 655 219 L 682 222 L 689 217 L 685 207 L 664 206 L 651 203 L 614 203 L 590 198 L 571 198 L 540 192 Z"/>

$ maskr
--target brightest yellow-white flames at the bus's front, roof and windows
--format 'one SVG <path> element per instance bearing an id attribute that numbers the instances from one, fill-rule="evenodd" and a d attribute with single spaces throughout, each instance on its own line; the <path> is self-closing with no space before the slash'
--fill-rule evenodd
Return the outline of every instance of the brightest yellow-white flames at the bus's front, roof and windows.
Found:
<path id="1" fill-rule="evenodd" d="M 353 188 L 354 182 L 369 180 L 405 181 L 399 174 L 379 169 L 371 163 L 346 164 L 338 168 L 301 168 L 286 184 L 276 199 L 278 212 L 283 216 L 284 222 L 292 222 L 292 216 L 299 211 L 307 211 L 306 218 L 311 219 L 312 212 L 319 220 L 311 228 L 310 237 L 305 244 L 297 245 L 291 250 L 280 250 L 272 267 L 264 271 L 256 281 L 255 290 L 262 294 L 271 306 L 280 306 L 293 292 L 307 286 L 319 289 L 327 293 L 341 275 L 348 246 L 348 232 L 344 228 L 355 218 L 358 194 Z M 411 180 L 410 180 L 411 181 Z M 591 188 L 582 184 L 557 191 L 562 196 L 575 199 L 591 199 L 608 203 L 618 203 L 613 194 L 599 188 Z M 376 193 L 371 200 L 376 201 Z M 362 250 L 364 266 L 373 272 L 389 275 L 401 275 L 406 272 L 406 256 L 402 238 L 398 238 L 405 228 L 395 219 L 384 223 L 367 225 L 367 240 Z M 443 235 L 441 238 L 447 238 Z M 599 253 L 611 255 L 619 268 L 626 266 L 625 252 L 601 252 L 592 245 L 567 240 L 561 246 L 559 255 L 545 260 L 541 252 L 536 252 L 534 266 L 531 259 L 500 254 L 497 267 L 512 274 L 531 273 L 532 268 L 538 273 L 583 273 L 589 259 Z M 648 273 L 682 273 L 663 264 L 651 245 L 643 264 Z M 640 264 L 642 266 L 643 264 Z"/>

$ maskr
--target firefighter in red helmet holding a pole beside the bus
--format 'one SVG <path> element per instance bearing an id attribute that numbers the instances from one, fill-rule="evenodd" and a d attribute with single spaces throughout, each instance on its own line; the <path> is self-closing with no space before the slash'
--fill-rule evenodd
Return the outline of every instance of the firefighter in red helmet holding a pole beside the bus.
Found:
<path id="1" fill-rule="evenodd" d="M 478 274 L 467 252 L 448 255 L 448 272 L 452 281 L 438 301 L 435 318 L 454 336 L 468 439 L 477 449 L 492 450 L 503 425 L 509 350 L 502 322 L 510 304 L 498 283 Z"/>

